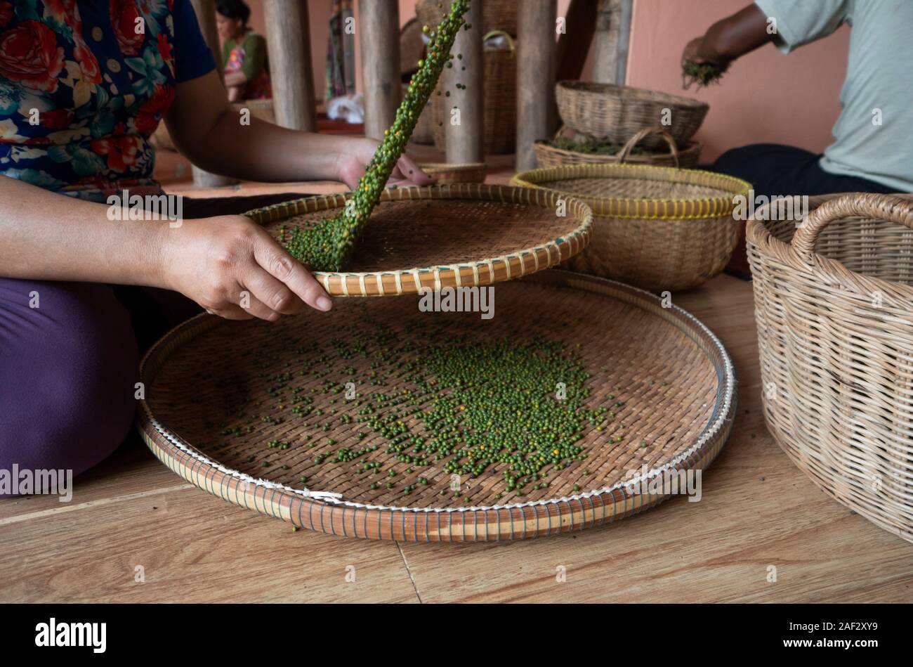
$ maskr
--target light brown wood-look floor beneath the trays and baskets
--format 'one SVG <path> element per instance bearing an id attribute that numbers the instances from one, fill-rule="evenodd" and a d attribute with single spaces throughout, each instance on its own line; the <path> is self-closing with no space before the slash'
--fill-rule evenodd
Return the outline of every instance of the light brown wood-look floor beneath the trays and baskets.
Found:
<path id="1" fill-rule="evenodd" d="M 764 429 L 750 283 L 723 275 L 674 301 L 740 380 L 699 503 L 526 542 L 366 542 L 218 500 L 133 437 L 71 503 L 0 500 L 0 601 L 913 601 L 913 545 L 818 491 Z"/>

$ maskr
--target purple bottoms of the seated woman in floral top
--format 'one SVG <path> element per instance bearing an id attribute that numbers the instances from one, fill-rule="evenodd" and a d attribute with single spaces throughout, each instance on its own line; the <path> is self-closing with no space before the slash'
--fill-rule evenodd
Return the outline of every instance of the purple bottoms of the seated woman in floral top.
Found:
<path id="1" fill-rule="evenodd" d="M 301 196 L 187 198 L 184 217 Z M 172 291 L 0 278 L 0 475 L 78 475 L 108 457 L 131 429 L 141 351 L 200 311 Z"/>

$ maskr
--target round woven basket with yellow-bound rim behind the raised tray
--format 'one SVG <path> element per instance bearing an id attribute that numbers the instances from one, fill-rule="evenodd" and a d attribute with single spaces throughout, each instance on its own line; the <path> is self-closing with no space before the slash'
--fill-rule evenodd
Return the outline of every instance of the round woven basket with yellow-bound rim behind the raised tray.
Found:
<path id="1" fill-rule="evenodd" d="M 593 239 L 570 269 L 650 291 L 687 290 L 726 267 L 739 240 L 734 197 L 750 189 L 730 176 L 637 164 L 546 167 L 510 183 L 593 208 Z"/>

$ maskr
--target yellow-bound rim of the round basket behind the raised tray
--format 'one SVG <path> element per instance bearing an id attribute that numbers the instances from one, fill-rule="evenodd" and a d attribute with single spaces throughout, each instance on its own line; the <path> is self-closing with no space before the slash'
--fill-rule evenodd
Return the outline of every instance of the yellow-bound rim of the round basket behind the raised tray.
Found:
<path id="1" fill-rule="evenodd" d="M 593 196 L 558 190 L 554 187 L 539 185 L 542 181 L 563 181 L 572 178 L 604 178 L 605 180 L 633 180 L 636 173 L 652 173 L 663 175 L 661 178 L 650 180 L 657 182 L 685 183 L 687 185 L 715 185 L 702 184 L 701 179 L 713 179 L 715 182 L 729 183 L 732 185 L 731 196 L 693 197 L 687 199 L 656 198 L 656 197 L 624 197 L 624 196 Z M 697 180 L 677 180 L 676 176 L 691 175 Z M 510 179 L 510 185 L 531 187 L 547 192 L 559 193 L 582 200 L 593 207 L 595 217 L 621 217 L 632 219 L 711 219 L 725 217 L 732 214 L 735 196 L 747 195 L 751 184 L 733 176 L 716 174 L 702 169 L 681 169 L 656 164 L 563 164 L 552 167 L 539 167 L 529 171 L 520 172 Z M 653 212 L 650 211 L 652 207 Z M 672 208 L 671 213 L 669 208 Z M 634 209 L 632 212 L 631 209 Z M 659 209 L 663 213 L 659 213 Z"/>

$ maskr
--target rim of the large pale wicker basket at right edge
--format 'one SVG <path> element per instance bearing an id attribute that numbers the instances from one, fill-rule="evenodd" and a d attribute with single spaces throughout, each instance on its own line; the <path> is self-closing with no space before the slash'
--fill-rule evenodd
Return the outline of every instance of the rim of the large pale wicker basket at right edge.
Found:
<path id="1" fill-rule="evenodd" d="M 813 195 L 808 198 L 809 210 L 821 206 L 825 202 L 838 199 L 842 196 L 864 195 L 866 193 L 840 193 L 834 195 Z M 889 195 L 908 199 L 909 206 L 913 207 L 913 195 Z M 866 301 L 871 299 L 874 291 L 880 291 L 888 299 L 896 300 L 898 305 L 908 306 L 913 310 L 913 286 L 905 285 L 902 282 L 887 281 L 877 276 L 869 276 L 865 273 L 859 273 L 848 269 L 846 265 L 838 260 L 824 257 L 824 255 L 815 254 L 814 265 L 805 264 L 799 261 L 792 252 L 792 245 L 784 243 L 781 239 L 771 234 L 768 228 L 768 222 L 771 220 L 757 219 L 761 214 L 767 213 L 775 202 L 759 206 L 754 215 L 748 219 L 745 227 L 745 239 L 753 245 L 761 257 L 767 260 L 787 261 L 792 270 L 803 271 L 804 273 L 824 275 L 830 280 L 837 281 L 846 290 L 852 291 L 855 295 L 865 297 Z M 778 253 L 778 254 L 775 254 Z M 852 280 L 843 280 L 843 276 L 849 275 Z"/>

